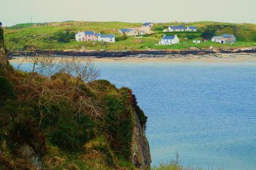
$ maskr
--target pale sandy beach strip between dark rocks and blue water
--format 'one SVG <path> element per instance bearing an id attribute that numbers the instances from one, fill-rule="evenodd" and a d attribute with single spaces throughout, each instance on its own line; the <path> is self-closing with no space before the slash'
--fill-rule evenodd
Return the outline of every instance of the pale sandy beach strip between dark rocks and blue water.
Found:
<path id="1" fill-rule="evenodd" d="M 28 57 L 30 58 L 30 57 Z M 79 57 L 88 58 L 88 57 Z M 111 58 L 95 58 L 90 57 L 95 63 L 113 63 L 113 62 L 128 62 L 128 63 L 146 63 L 146 62 L 173 62 L 173 63 L 187 63 L 187 62 L 204 62 L 204 63 L 240 63 L 240 62 L 256 62 L 256 54 L 206 54 L 206 55 L 165 55 L 165 56 L 129 56 L 129 57 L 111 57 Z M 53 57 L 55 62 L 62 59 L 69 59 L 69 57 Z M 25 57 L 12 57 L 10 63 L 28 63 Z"/>

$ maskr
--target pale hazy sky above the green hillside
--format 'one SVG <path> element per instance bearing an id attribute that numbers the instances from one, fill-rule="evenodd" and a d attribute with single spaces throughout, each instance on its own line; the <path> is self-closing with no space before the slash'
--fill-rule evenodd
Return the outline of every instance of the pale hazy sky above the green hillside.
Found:
<path id="1" fill-rule="evenodd" d="M 256 23 L 256 0 L 0 0 L 5 25 L 30 22 L 121 21 Z"/>

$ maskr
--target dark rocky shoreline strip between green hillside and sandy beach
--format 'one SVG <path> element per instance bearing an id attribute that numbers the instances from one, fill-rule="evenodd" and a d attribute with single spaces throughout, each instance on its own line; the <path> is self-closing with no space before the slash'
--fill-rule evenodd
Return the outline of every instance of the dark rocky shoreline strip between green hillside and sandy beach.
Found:
<path id="1" fill-rule="evenodd" d="M 9 52 L 9 56 L 33 56 L 35 54 L 47 56 L 89 56 L 94 58 L 121 58 L 131 56 L 150 56 L 150 57 L 163 57 L 166 55 L 205 55 L 205 54 L 252 54 L 256 53 L 256 48 L 232 48 L 232 49 L 197 49 L 197 50 L 133 50 L 133 51 L 83 51 L 83 50 L 35 50 L 28 51 L 13 51 Z"/>

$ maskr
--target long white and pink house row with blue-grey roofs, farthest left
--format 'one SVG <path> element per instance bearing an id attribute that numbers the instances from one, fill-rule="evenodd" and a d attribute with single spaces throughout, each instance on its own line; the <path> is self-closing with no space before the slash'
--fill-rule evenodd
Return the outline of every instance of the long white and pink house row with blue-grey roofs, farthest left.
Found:
<path id="1" fill-rule="evenodd" d="M 75 33 L 75 40 L 80 41 L 105 41 L 105 42 L 116 42 L 114 34 L 100 34 L 95 31 L 83 31 Z"/>

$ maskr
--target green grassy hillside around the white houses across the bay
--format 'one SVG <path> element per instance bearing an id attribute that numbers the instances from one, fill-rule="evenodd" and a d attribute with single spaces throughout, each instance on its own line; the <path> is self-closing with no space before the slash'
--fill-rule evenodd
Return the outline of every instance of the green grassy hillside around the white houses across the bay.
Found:
<path id="1" fill-rule="evenodd" d="M 179 33 L 180 44 L 174 45 L 158 45 L 163 35 L 173 35 L 174 33 L 163 33 L 169 25 L 196 25 L 197 33 Z M 119 40 L 122 37 L 118 33 L 120 28 L 137 27 L 141 23 L 124 23 L 124 22 L 59 22 L 45 24 L 17 24 L 5 29 L 5 40 L 9 50 L 27 50 L 28 46 L 33 46 L 39 50 L 165 50 L 165 49 L 188 49 L 190 47 L 209 48 L 238 48 L 256 46 L 256 24 L 228 24 L 221 22 L 194 22 L 194 23 L 164 23 L 154 24 L 152 35 L 144 37 L 127 37 L 127 39 Z M 206 27 L 215 27 L 217 29 L 215 35 L 223 33 L 234 34 L 238 42 L 235 44 L 219 44 L 216 42 L 203 42 L 195 44 L 194 39 L 201 39 L 200 35 Z M 115 43 L 100 42 L 76 42 L 72 39 L 70 42 L 58 42 L 53 39 L 54 34 L 60 31 L 95 31 L 100 33 L 114 33 L 116 35 Z"/>

